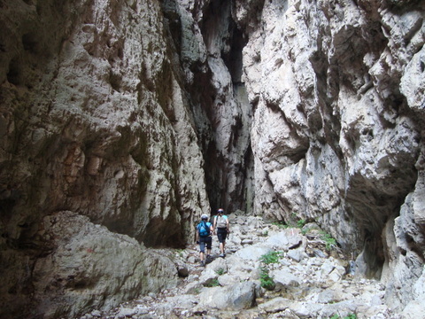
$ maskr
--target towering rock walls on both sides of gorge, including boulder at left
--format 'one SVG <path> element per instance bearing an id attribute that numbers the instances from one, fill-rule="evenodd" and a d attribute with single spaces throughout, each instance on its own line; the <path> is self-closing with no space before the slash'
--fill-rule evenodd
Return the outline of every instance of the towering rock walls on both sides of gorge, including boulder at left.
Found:
<path id="1" fill-rule="evenodd" d="M 1 318 L 175 288 L 162 250 L 219 207 L 318 225 L 425 313 L 424 1 L 0 0 L 0 26 Z"/>

